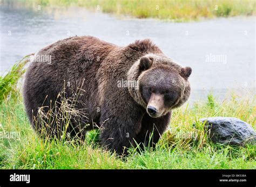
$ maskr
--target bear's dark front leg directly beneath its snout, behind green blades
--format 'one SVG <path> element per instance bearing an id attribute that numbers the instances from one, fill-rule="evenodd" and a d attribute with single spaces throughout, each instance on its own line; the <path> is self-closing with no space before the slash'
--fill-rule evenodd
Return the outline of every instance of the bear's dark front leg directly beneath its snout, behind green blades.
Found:
<path id="1" fill-rule="evenodd" d="M 134 141 L 139 144 L 142 150 L 145 147 L 154 148 L 161 135 L 169 126 L 170 120 L 171 112 L 158 118 L 153 118 L 145 114 L 142 120 L 142 129 L 136 138 L 134 138 Z M 134 147 L 137 147 L 136 143 L 133 142 Z"/>

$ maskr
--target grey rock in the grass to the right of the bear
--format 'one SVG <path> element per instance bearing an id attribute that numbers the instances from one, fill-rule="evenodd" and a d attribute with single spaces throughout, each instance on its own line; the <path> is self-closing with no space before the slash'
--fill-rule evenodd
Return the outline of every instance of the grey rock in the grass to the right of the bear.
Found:
<path id="1" fill-rule="evenodd" d="M 207 117 L 200 121 L 206 121 L 204 127 L 209 130 L 214 143 L 243 145 L 246 142 L 256 142 L 252 126 L 235 117 Z"/>

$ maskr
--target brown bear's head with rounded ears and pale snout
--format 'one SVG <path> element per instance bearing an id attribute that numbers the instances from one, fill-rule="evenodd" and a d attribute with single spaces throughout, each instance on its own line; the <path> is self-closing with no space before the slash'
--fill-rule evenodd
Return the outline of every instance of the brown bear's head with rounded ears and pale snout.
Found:
<path id="1" fill-rule="evenodd" d="M 191 67 L 181 67 L 163 54 L 146 54 L 127 74 L 138 85 L 129 92 L 151 117 L 164 116 L 190 96 L 191 72 Z"/>

